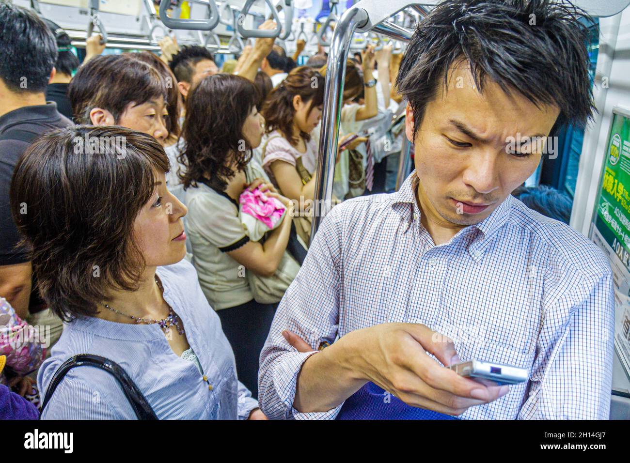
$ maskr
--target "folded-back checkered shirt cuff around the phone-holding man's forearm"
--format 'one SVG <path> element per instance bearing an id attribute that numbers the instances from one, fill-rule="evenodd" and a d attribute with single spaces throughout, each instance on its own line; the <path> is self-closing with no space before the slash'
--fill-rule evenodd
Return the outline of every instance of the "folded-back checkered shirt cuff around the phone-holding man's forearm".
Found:
<path id="1" fill-rule="evenodd" d="M 287 353 L 276 365 L 274 386 L 278 397 L 280 397 L 280 400 L 287 410 L 285 413 L 285 418 L 287 418 L 287 420 L 290 420 L 291 418 L 294 420 L 334 420 L 339 413 L 341 406 L 343 406 L 342 402 L 335 408 L 331 408 L 328 411 L 313 411 L 309 413 L 302 413 L 293 407 L 295 389 L 297 389 L 297 375 L 302 369 L 304 362 L 306 362 L 306 359 L 318 352 L 318 350 L 314 350 L 312 352 Z"/>

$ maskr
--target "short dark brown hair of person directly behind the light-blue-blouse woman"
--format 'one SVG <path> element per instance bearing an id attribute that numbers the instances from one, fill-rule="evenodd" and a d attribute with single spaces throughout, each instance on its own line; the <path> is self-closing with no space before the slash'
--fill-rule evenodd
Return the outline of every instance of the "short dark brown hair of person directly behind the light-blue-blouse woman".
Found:
<path id="1" fill-rule="evenodd" d="M 99 55 L 79 67 L 68 88 L 72 113 L 79 123 L 91 123 L 89 111 L 103 108 L 118 122 L 127 105 L 142 105 L 162 96 L 168 103 L 160 72 L 133 54 Z"/>

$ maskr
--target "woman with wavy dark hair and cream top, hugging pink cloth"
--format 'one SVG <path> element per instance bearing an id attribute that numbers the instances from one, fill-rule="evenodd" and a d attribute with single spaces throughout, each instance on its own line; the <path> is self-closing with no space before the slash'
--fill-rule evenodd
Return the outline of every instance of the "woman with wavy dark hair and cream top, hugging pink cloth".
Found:
<path id="1" fill-rule="evenodd" d="M 276 193 L 252 158 L 263 135 L 255 85 L 244 77 L 216 74 L 205 77 L 189 96 L 180 162 L 186 164 L 182 181 L 194 263 L 234 349 L 239 378 L 256 394 L 258 356 L 277 304 L 256 302 L 246 275 L 277 273 L 291 234 L 292 203 Z M 241 193 L 256 188 L 287 209 L 282 223 L 263 239 L 250 237 L 239 218 Z"/>

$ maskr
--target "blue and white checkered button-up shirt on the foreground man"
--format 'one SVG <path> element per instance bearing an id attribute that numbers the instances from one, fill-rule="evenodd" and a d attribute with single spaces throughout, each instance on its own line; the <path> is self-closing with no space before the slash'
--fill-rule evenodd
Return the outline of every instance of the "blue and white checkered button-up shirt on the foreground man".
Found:
<path id="1" fill-rule="evenodd" d="M 420 223 L 415 172 L 390 195 L 355 198 L 322 221 L 280 302 L 261 352 L 259 402 L 269 418 L 335 418 L 292 407 L 299 353 L 379 323 L 422 323 L 454 339 L 463 362 L 529 370 L 464 419 L 608 419 L 614 292 L 604 254 L 570 227 L 509 196 L 487 219 L 435 246 Z"/>

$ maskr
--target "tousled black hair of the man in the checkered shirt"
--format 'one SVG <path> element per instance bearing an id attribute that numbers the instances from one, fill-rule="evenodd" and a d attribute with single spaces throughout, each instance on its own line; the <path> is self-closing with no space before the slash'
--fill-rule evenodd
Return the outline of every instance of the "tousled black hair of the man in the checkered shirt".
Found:
<path id="1" fill-rule="evenodd" d="M 556 0 L 445 0 L 418 23 L 396 85 L 414 112 L 425 108 L 452 65 L 469 63 L 481 93 L 486 79 L 506 93 L 560 109 L 558 121 L 583 126 L 592 118 L 588 26 L 583 10 Z M 536 21 L 532 25 L 531 21 Z"/>

